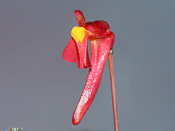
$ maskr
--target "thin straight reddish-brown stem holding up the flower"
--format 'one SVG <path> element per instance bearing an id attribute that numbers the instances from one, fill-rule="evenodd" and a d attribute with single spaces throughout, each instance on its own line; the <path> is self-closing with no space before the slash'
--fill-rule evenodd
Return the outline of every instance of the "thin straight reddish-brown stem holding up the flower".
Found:
<path id="1" fill-rule="evenodd" d="M 114 66 L 113 66 L 112 54 L 113 54 L 113 51 L 111 49 L 108 55 L 108 62 L 109 62 L 109 71 L 110 71 L 110 79 L 111 79 L 111 94 L 112 94 L 112 105 L 113 105 L 113 116 L 114 116 L 114 129 L 115 131 L 119 131 L 117 97 L 116 97 L 116 89 L 115 89 Z"/>

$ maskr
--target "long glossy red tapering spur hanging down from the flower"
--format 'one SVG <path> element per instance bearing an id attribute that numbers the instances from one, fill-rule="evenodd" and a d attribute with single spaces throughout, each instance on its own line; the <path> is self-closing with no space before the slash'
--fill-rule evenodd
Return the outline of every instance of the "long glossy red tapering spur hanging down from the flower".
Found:
<path id="1" fill-rule="evenodd" d="M 91 40 L 91 68 L 88 78 L 74 111 L 72 122 L 77 125 L 90 107 L 102 78 L 105 63 L 113 44 L 114 34 L 111 32 L 106 38 Z"/>

